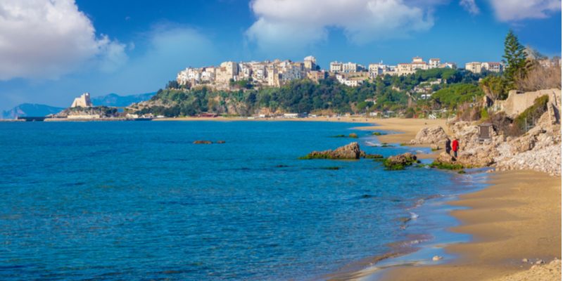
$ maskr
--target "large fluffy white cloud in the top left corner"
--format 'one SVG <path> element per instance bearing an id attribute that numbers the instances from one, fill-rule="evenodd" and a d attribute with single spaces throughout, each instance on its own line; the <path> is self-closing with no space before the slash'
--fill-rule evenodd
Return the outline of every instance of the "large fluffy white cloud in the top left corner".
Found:
<path id="1" fill-rule="evenodd" d="M 112 72 L 127 61 L 124 50 L 96 37 L 74 0 L 0 1 L 0 80 L 58 79 L 84 65 Z"/>

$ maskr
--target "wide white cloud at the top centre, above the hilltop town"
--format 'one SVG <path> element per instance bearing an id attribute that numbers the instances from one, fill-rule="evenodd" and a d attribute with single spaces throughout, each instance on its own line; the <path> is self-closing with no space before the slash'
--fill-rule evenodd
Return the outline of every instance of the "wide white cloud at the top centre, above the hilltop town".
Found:
<path id="1" fill-rule="evenodd" d="M 254 0 L 258 18 L 246 31 L 248 41 L 262 51 L 295 50 L 328 37 L 328 29 L 341 28 L 353 44 L 405 38 L 434 25 L 432 6 L 442 0 Z"/>

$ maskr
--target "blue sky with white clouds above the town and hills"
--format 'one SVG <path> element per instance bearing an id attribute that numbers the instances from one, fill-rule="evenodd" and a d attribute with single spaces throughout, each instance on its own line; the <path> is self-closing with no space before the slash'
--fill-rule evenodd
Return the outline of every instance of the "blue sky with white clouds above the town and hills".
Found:
<path id="1" fill-rule="evenodd" d="M 561 0 L 2 0 L 0 110 L 151 93 L 227 60 L 500 62 L 511 28 L 561 55 Z"/>

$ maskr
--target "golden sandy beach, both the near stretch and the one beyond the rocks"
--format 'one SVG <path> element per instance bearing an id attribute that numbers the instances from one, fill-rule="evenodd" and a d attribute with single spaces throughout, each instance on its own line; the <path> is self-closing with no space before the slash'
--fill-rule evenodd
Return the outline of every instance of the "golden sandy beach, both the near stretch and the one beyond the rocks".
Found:
<path id="1" fill-rule="evenodd" d="M 386 143 L 407 143 L 424 127 L 448 128 L 446 120 L 408 121 L 410 124 L 403 126 L 401 123 L 405 119 L 377 119 L 374 123 L 378 126 L 355 129 L 399 132 L 377 136 L 377 139 Z M 396 129 L 398 126 L 401 129 Z M 433 159 L 441 151 L 417 154 L 417 157 Z M 375 268 L 375 264 L 356 273 L 347 273 L 348 278 L 341 279 L 339 277 L 343 276 L 334 274 L 329 280 L 504 281 L 512 280 L 514 276 L 534 278 L 538 274 L 548 278 L 545 280 L 560 280 L 560 262 L 544 265 L 545 268 L 541 264 L 536 265 L 536 262 L 542 260 L 550 263 L 561 259 L 562 178 L 532 170 L 512 170 L 488 174 L 486 184 L 489 186 L 482 190 L 464 193 L 457 200 L 443 202 L 450 207 L 464 208 L 448 213 L 448 216 L 459 221 L 459 226 L 444 231 L 471 235 L 469 242 L 441 245 L 444 255 L 455 258 L 432 261 L 433 256 L 421 257 L 417 251 L 413 251 L 381 259 L 380 264 L 384 264 L 382 268 Z M 440 243 L 434 241 L 432 244 Z M 409 256 L 418 259 L 405 261 Z M 528 259 L 528 262 L 523 259 Z M 393 263 L 395 260 L 398 262 Z M 534 269 L 536 266 L 539 269 Z M 554 276 L 553 272 L 556 278 L 549 279 Z"/>

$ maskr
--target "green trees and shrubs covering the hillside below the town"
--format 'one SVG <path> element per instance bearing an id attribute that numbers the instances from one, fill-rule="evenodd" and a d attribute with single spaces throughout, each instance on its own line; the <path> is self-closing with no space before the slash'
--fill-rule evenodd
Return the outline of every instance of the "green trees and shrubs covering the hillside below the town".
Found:
<path id="1" fill-rule="evenodd" d="M 174 81 L 170 81 L 166 90 L 159 90 L 149 107 L 140 109 L 137 113 L 151 112 L 153 115 L 194 116 L 202 112 L 217 114 L 253 115 L 261 109 L 268 108 L 271 112 L 283 110 L 286 112 L 335 112 L 362 113 L 366 107 L 370 111 L 390 110 L 393 112 L 410 112 L 413 117 L 421 111 L 423 105 L 430 107 L 455 106 L 472 101 L 474 96 L 482 96 L 483 91 L 476 84 L 479 78 L 486 74 L 477 75 L 452 69 L 435 68 L 418 70 L 414 74 L 404 76 L 385 75 L 366 81 L 359 87 L 348 87 L 331 79 L 321 79 L 319 83 L 309 79 L 296 79 L 281 86 L 281 88 L 249 89 L 249 81 L 232 81 L 231 84 L 241 87 L 239 91 L 212 91 L 205 86 L 196 87 L 190 91 L 174 89 Z M 436 91 L 429 100 L 418 100 L 417 110 L 408 110 L 410 96 L 415 98 L 422 93 L 412 93 L 421 83 L 429 85 L 429 81 L 443 79 L 448 84 L 431 85 Z M 376 99 L 375 103 L 366 102 L 368 98 Z"/>

